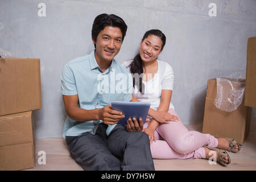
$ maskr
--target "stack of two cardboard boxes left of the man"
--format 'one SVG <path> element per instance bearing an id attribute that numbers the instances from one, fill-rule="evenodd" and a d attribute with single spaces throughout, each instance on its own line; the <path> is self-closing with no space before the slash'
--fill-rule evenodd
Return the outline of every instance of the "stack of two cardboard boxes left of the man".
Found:
<path id="1" fill-rule="evenodd" d="M 0 59 L 0 170 L 35 167 L 36 109 L 42 109 L 40 59 Z"/>

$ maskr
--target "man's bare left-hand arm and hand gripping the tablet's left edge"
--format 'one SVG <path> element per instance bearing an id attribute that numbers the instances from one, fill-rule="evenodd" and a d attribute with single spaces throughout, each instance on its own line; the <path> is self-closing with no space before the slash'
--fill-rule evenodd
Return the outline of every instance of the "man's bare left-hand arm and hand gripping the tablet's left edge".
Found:
<path id="1" fill-rule="evenodd" d="M 74 96 L 63 95 L 63 101 L 68 116 L 76 121 L 84 122 L 101 119 L 106 125 L 114 125 L 120 119 L 125 117 L 121 112 L 112 110 L 111 105 L 102 107 L 100 109 L 82 109 L 78 106 L 79 98 L 77 94 Z"/>

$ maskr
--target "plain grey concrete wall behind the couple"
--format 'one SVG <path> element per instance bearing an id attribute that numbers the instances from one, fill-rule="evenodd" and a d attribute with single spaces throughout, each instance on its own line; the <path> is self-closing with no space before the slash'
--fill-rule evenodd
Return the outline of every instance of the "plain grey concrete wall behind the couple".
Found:
<path id="1" fill-rule="evenodd" d="M 45 17 L 38 16 L 41 2 Z M 216 3 L 216 17 L 208 15 L 209 3 Z M 172 102 L 184 124 L 196 123 L 203 121 L 207 80 L 245 73 L 247 38 L 256 36 L 255 10 L 255 0 L 0 0 L 0 48 L 41 59 L 43 109 L 35 111 L 36 138 L 61 137 L 61 70 L 93 50 L 94 18 L 116 14 L 127 23 L 120 63 L 137 53 L 145 31 L 159 28 L 167 36 L 159 60 L 175 73 Z"/>

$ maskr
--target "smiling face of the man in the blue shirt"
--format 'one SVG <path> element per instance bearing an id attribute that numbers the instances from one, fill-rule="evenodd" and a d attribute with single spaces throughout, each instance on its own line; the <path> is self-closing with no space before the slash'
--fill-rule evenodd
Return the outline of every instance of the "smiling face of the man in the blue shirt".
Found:
<path id="1" fill-rule="evenodd" d="M 111 62 L 122 45 L 122 32 L 118 27 L 106 26 L 97 36 L 95 58 L 97 61 Z"/>

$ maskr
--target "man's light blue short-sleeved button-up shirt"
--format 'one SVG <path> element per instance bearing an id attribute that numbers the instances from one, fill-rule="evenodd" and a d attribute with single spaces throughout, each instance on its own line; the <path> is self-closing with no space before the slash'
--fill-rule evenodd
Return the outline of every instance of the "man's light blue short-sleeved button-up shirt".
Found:
<path id="1" fill-rule="evenodd" d="M 86 110 L 98 109 L 112 101 L 130 101 L 133 82 L 129 71 L 114 59 L 110 67 L 103 72 L 96 62 L 94 51 L 90 55 L 77 57 L 65 64 L 61 74 L 61 94 L 78 95 L 79 107 Z M 98 121 L 65 120 L 63 138 L 78 136 L 82 133 L 95 134 Z M 115 125 L 109 125 L 109 135 Z"/>

